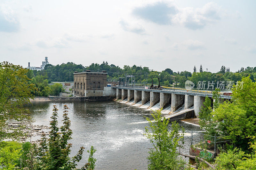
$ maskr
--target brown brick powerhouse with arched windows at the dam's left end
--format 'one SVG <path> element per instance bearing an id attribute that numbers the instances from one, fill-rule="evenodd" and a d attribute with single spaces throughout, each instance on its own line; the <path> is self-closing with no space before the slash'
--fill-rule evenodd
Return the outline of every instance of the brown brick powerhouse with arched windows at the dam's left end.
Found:
<path id="1" fill-rule="evenodd" d="M 107 72 L 74 73 L 74 96 L 103 96 L 103 89 L 107 86 Z"/>

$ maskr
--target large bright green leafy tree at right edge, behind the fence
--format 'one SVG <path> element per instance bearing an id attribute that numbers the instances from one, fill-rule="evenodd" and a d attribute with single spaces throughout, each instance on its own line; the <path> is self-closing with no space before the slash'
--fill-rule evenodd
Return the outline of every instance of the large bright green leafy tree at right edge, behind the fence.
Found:
<path id="1" fill-rule="evenodd" d="M 212 114 L 222 135 L 247 150 L 248 137 L 256 134 L 256 83 L 249 76 L 242 81 L 243 89 L 235 87 L 232 91 L 233 103 L 220 104 Z"/>

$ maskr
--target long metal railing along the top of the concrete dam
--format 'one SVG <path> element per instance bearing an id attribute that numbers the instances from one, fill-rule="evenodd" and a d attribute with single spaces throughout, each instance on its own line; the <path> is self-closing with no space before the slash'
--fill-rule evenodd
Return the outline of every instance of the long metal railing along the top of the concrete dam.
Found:
<path id="1" fill-rule="evenodd" d="M 140 91 L 153 91 L 159 93 L 173 93 L 179 95 L 190 95 L 190 96 L 208 96 L 212 97 L 213 94 L 211 91 L 202 91 L 202 90 L 187 90 L 187 89 L 160 89 L 160 88 L 151 88 L 145 89 L 145 86 L 113 86 L 114 89 L 132 89 Z M 224 92 L 220 92 L 220 98 L 231 99 L 232 96 L 227 96 Z"/>

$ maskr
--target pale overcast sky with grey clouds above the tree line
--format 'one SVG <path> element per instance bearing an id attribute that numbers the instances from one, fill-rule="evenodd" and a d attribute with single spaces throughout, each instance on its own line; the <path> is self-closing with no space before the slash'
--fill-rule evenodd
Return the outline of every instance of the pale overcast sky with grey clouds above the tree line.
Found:
<path id="1" fill-rule="evenodd" d="M 235 72 L 256 66 L 255 9 L 255 0 L 0 0 L 0 60 Z"/>

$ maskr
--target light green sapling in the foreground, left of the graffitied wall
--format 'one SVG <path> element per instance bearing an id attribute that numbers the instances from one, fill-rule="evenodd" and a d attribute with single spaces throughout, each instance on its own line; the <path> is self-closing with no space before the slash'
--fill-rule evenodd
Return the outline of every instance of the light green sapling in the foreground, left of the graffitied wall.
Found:
<path id="1" fill-rule="evenodd" d="M 146 136 L 153 145 L 149 151 L 148 169 L 172 169 L 184 168 L 185 162 L 176 153 L 177 147 L 184 143 L 184 129 L 179 124 L 172 122 L 172 131 L 168 130 L 167 119 L 161 118 L 161 111 L 152 114 L 154 121 L 147 118 L 149 126 L 145 127 Z M 183 133 L 180 135 L 179 131 Z"/>

